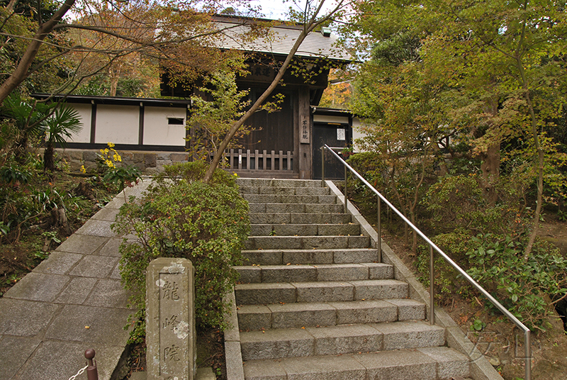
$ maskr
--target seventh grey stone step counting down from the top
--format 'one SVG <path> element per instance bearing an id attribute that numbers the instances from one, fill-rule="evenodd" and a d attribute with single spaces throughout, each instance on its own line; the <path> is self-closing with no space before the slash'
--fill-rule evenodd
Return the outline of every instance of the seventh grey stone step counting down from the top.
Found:
<path id="1" fill-rule="evenodd" d="M 249 236 L 246 250 L 316 250 L 366 248 L 368 236 Z"/>

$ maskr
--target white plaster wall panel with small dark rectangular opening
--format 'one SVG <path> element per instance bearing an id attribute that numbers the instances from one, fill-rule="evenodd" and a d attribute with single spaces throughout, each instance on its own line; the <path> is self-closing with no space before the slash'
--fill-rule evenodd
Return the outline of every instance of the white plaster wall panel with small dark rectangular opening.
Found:
<path id="1" fill-rule="evenodd" d="M 167 118 L 185 120 L 185 108 L 145 107 L 144 145 L 185 146 L 185 123 L 169 125 Z"/>

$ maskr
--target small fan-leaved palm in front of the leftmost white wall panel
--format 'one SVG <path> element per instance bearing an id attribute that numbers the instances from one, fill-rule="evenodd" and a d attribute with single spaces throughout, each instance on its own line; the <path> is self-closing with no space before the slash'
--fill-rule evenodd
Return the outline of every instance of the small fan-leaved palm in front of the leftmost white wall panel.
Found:
<path id="1" fill-rule="evenodd" d="M 55 170 L 55 162 L 53 161 L 55 144 L 57 143 L 61 147 L 66 147 L 67 139 L 71 138 L 73 133 L 78 133 L 83 127 L 79 113 L 69 106 L 57 107 L 57 109 L 42 122 L 42 127 L 45 132 L 43 169 L 53 172 Z"/>

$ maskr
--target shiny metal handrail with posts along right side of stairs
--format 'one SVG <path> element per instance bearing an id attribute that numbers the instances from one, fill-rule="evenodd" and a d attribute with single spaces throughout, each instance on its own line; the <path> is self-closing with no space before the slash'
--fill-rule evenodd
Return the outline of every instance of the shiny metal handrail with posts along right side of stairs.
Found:
<path id="1" fill-rule="evenodd" d="M 432 242 L 430 240 L 430 238 L 427 238 L 427 236 L 424 233 L 422 233 L 419 228 L 415 227 L 415 225 L 413 225 L 413 223 L 411 223 L 410 220 L 403 215 L 403 213 L 401 213 L 397 208 L 395 208 L 392 205 L 392 203 L 390 203 L 388 201 L 388 199 L 386 199 L 382 194 L 380 194 L 378 192 L 378 190 L 374 189 L 374 186 L 369 184 L 369 182 L 366 181 L 366 179 L 364 179 L 349 164 L 347 164 L 347 162 L 344 161 L 342 159 L 342 157 L 337 155 L 335 150 L 343 150 L 344 147 L 329 147 L 327 144 L 325 144 L 320 149 L 321 149 L 321 157 L 322 157 L 322 160 L 321 160 L 321 164 L 322 164 L 322 179 L 321 179 L 321 182 L 322 182 L 323 187 L 325 187 L 325 149 L 326 149 L 329 152 L 331 152 L 332 155 L 337 157 L 339 162 L 342 162 L 342 164 L 344 165 L 345 168 L 349 169 L 349 171 L 352 172 L 352 174 L 354 174 L 355 177 L 360 179 L 363 184 L 368 186 L 369 189 L 371 191 L 373 191 L 374 194 L 376 194 L 376 196 L 378 196 L 378 199 L 377 199 L 377 202 L 378 202 L 378 223 L 377 223 L 377 228 L 378 228 L 378 262 L 382 262 L 382 255 L 381 255 L 382 254 L 382 238 L 381 238 L 381 215 L 380 215 L 381 214 L 381 201 L 386 203 L 386 206 L 388 206 L 395 213 L 397 213 L 398 216 L 400 218 L 402 218 L 402 220 L 407 225 L 409 225 L 410 228 L 412 228 L 412 230 L 415 231 L 415 233 L 417 233 L 417 235 L 420 235 L 420 237 L 423 240 L 425 240 L 425 242 L 427 242 L 428 245 L 430 245 L 430 318 L 429 318 L 430 324 L 434 325 L 434 323 L 435 323 L 434 281 L 433 281 L 433 273 L 434 273 L 433 254 L 434 254 L 434 250 L 435 250 L 435 251 L 437 251 L 437 253 L 439 253 L 439 255 L 441 255 L 441 257 L 443 257 L 443 259 L 445 259 L 446 262 L 448 262 L 451 265 L 451 267 L 453 267 L 457 272 L 459 272 L 459 274 L 461 274 L 461 276 L 463 276 L 469 283 L 471 283 L 471 285 L 473 285 L 486 298 L 488 298 L 488 301 L 493 303 L 493 305 L 496 306 L 496 308 L 498 308 L 498 310 L 500 310 L 509 320 L 511 320 L 515 325 L 517 325 L 517 327 L 520 328 L 520 330 L 524 331 L 525 380 L 531 380 L 532 379 L 532 350 L 531 350 L 531 342 L 530 342 L 530 337 L 529 337 L 529 335 L 530 335 L 529 328 L 527 328 L 522 322 L 520 322 L 520 320 L 518 320 L 512 313 L 510 313 L 510 311 L 508 311 L 507 308 L 502 306 L 502 304 L 500 302 L 498 302 L 498 300 L 496 300 L 496 298 L 494 298 L 492 295 L 490 295 L 490 293 L 488 293 L 488 291 L 486 291 L 480 284 L 478 284 L 478 282 L 476 282 L 471 276 L 469 276 L 468 273 L 466 273 L 464 271 L 464 269 L 459 267 L 459 264 L 456 264 L 456 262 L 454 262 L 451 259 L 451 257 L 449 257 L 445 252 L 443 252 L 439 247 L 437 247 L 437 245 L 435 245 L 435 243 Z M 345 169 L 344 170 L 344 210 L 345 210 L 345 213 L 347 212 L 347 174 L 348 174 L 348 172 Z"/>

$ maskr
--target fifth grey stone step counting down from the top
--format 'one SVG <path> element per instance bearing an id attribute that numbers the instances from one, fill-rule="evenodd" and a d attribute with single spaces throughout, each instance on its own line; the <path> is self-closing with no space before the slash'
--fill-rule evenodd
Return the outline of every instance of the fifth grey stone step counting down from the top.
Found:
<path id="1" fill-rule="evenodd" d="M 249 213 L 253 224 L 347 224 L 352 217 L 344 213 Z"/>

